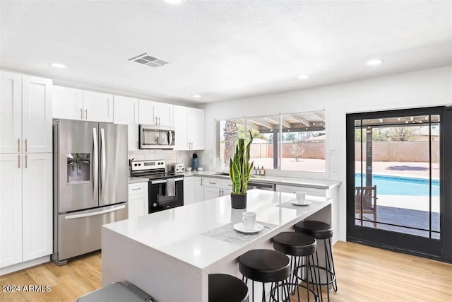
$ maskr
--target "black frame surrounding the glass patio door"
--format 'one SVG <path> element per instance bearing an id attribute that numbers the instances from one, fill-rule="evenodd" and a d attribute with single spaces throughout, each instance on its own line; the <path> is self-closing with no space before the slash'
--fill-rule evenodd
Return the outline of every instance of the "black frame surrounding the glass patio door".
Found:
<path id="1" fill-rule="evenodd" d="M 376 228 L 355 226 L 355 120 L 410 115 L 440 116 L 440 240 Z M 448 113 L 446 113 L 444 106 L 347 114 L 347 241 L 373 245 L 378 248 L 396 250 L 437 260 L 452 261 L 452 239 L 447 239 L 447 234 L 445 233 L 446 230 L 452 230 L 452 158 L 446 158 L 444 156 L 448 150 L 452 154 L 452 139 L 444 139 L 445 137 L 452 138 L 451 120 L 452 110 L 448 110 Z M 451 184 L 446 186 L 446 190 L 444 186 L 445 181 Z M 444 202 L 445 200 L 448 200 L 448 202 Z M 448 234 L 449 236 L 452 235 L 452 231 L 450 233 Z"/>

